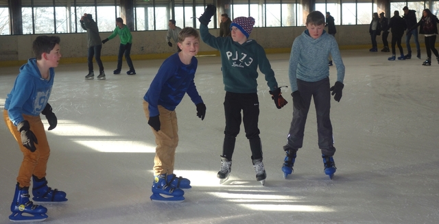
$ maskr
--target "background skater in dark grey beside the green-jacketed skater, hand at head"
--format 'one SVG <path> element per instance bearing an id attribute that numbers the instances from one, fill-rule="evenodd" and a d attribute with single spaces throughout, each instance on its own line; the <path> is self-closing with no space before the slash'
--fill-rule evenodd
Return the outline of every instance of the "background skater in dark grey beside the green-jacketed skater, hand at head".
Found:
<path id="1" fill-rule="evenodd" d="M 104 65 L 101 60 L 102 43 L 97 24 L 93 20 L 91 14 L 86 13 L 81 17 L 80 23 L 82 29 L 87 31 L 88 75 L 85 76 L 85 79 L 93 79 L 95 77 L 95 73 L 93 73 L 93 55 L 95 56 L 97 66 L 99 66 L 99 75 L 97 76 L 97 79 L 105 79 Z"/>

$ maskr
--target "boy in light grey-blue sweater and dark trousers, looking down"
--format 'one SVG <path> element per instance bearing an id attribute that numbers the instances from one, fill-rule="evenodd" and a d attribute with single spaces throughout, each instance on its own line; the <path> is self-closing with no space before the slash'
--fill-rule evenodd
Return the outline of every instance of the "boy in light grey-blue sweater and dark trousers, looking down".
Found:
<path id="1" fill-rule="evenodd" d="M 333 155 L 333 134 L 329 110 L 331 91 L 334 99 L 340 102 L 344 87 L 344 64 L 335 38 L 324 31 L 324 15 L 311 12 L 307 16 L 307 30 L 298 36 L 292 46 L 289 58 L 289 82 L 294 103 L 293 121 L 288 133 L 286 153 L 282 167 L 285 178 L 293 171 L 296 152 L 302 147 L 305 122 L 314 99 L 317 114 L 318 147 L 322 151 L 324 172 L 333 177 L 335 164 Z M 329 88 L 328 55 L 331 54 L 337 66 L 337 82 Z"/>

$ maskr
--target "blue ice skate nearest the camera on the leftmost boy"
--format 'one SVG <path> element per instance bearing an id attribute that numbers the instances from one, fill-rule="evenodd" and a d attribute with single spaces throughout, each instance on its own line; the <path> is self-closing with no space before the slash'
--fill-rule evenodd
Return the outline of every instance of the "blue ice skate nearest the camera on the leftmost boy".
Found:
<path id="1" fill-rule="evenodd" d="M 14 201 L 11 204 L 12 214 L 9 220 L 12 222 L 41 222 L 47 219 L 47 208 L 34 205 L 29 201 L 29 187 L 20 188 L 15 186 Z"/>

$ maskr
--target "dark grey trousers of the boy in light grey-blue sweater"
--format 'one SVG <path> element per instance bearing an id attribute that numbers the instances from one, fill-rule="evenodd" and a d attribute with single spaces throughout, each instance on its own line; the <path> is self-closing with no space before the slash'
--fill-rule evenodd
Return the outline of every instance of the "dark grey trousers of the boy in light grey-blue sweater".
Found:
<path id="1" fill-rule="evenodd" d="M 305 132 L 305 123 L 307 121 L 311 97 L 314 99 L 317 114 L 317 133 L 318 147 L 322 154 L 331 156 L 335 153 L 333 147 L 332 125 L 329 119 L 331 109 L 331 93 L 329 91 L 329 78 L 322 79 L 318 82 L 305 82 L 297 79 L 298 91 L 305 102 L 305 108 L 302 110 L 293 110 L 293 121 L 288 132 L 288 142 L 283 149 L 285 151 L 292 149 L 298 150 L 303 145 L 303 136 Z"/>

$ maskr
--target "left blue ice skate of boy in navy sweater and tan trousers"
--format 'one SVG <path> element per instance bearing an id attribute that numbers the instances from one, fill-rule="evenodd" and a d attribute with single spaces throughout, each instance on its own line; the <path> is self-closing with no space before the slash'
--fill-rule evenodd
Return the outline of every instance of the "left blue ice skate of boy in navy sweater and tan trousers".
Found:
<path id="1" fill-rule="evenodd" d="M 165 177 L 160 175 L 154 176 L 152 195 L 150 197 L 152 201 L 182 202 L 185 201 L 183 195 L 185 195 L 185 192 L 180 188 L 172 188 L 166 183 Z"/>

